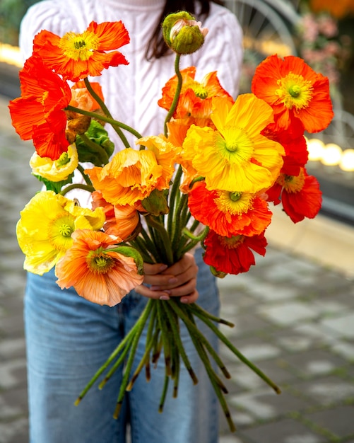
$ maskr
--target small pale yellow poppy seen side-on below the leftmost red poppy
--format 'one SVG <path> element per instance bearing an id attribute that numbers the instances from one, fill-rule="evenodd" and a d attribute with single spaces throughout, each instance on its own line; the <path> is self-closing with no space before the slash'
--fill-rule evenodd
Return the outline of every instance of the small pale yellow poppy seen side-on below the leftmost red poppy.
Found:
<path id="1" fill-rule="evenodd" d="M 30 158 L 30 167 L 33 174 L 54 182 L 66 180 L 77 166 L 78 151 L 75 144 L 70 144 L 68 151 L 61 154 L 58 160 L 41 157 L 37 152 Z"/>

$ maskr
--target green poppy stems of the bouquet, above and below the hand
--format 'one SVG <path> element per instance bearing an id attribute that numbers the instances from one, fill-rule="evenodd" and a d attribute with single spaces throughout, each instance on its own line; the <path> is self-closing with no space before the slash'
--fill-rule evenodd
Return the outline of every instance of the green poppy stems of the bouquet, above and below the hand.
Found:
<path id="1" fill-rule="evenodd" d="M 165 120 L 166 136 L 167 122 L 174 113 L 182 88 L 182 76 L 179 72 L 178 54 L 175 61 L 175 71 L 178 82 L 175 98 Z M 88 79 L 85 79 L 85 84 L 88 91 L 93 95 L 93 98 L 100 103 L 105 116 L 95 115 L 95 113 L 78 110 L 76 108 L 72 108 L 72 110 L 90 115 L 91 117 L 99 117 L 100 120 L 109 122 L 112 127 L 114 127 L 117 134 L 119 134 L 119 137 L 121 137 L 126 147 L 129 146 L 127 145 L 126 137 L 124 137 L 124 134 L 122 133 L 122 129 L 129 130 L 136 137 L 141 137 L 140 134 L 132 128 L 113 120 L 105 103 L 100 100 L 90 87 Z M 69 106 L 68 109 L 71 109 L 71 107 Z M 143 146 L 141 146 L 141 149 L 143 149 Z M 202 243 L 203 238 L 208 234 L 207 227 L 201 231 L 201 234 L 194 234 L 196 228 L 199 226 L 199 222 L 190 221 L 191 214 L 187 205 L 187 195 L 179 190 L 181 178 L 182 168 L 179 166 L 175 173 L 172 186 L 170 187 L 169 195 L 166 197 L 168 203 L 167 214 L 146 215 L 146 226 L 141 228 L 139 236 L 134 238 L 134 240 L 129 241 L 129 246 L 136 248 L 136 250 L 141 253 L 142 258 L 146 263 L 165 263 L 167 265 L 172 265 L 182 258 L 185 253 L 191 251 L 191 249 L 198 243 Z M 196 180 L 199 179 L 197 178 Z M 193 183 L 191 183 L 191 186 L 192 185 Z M 189 228 L 187 228 L 187 226 L 189 226 Z M 180 335 L 180 328 L 182 324 L 184 324 L 194 344 L 195 350 L 203 362 L 208 378 L 211 381 L 216 396 L 218 397 L 218 401 L 223 409 L 223 413 L 225 414 L 225 418 L 228 421 L 230 430 L 232 432 L 235 431 L 235 425 L 232 422 L 230 410 L 225 401 L 225 394 L 228 393 L 228 390 L 218 372 L 223 374 L 226 379 L 230 379 L 230 373 L 211 343 L 208 342 L 205 335 L 199 330 L 197 321 L 201 321 L 210 328 L 236 357 L 238 357 L 244 364 L 247 364 L 247 366 L 258 374 L 266 384 L 269 384 L 276 393 L 281 392 L 278 386 L 261 372 L 258 367 L 244 357 L 244 355 L 242 355 L 242 353 L 230 343 L 230 340 L 228 340 L 218 328 L 218 324 L 232 327 L 232 323 L 213 316 L 197 304 L 183 304 L 179 301 L 179 298 L 172 297 L 170 300 L 148 300 L 145 309 L 141 313 L 140 318 L 138 318 L 138 321 L 136 321 L 134 327 L 131 328 L 129 333 L 124 337 L 121 343 L 119 343 L 114 352 L 112 352 L 112 355 L 107 358 L 107 361 L 102 367 L 98 369 L 96 374 L 78 396 L 75 404 L 78 405 L 81 402 L 85 394 L 88 393 L 93 384 L 98 381 L 102 374 L 106 372 L 102 381 L 100 381 L 100 389 L 105 386 L 107 381 L 110 380 L 119 367 L 123 367 L 122 384 L 119 389 L 117 406 L 113 415 L 114 418 L 117 418 L 122 407 L 125 393 L 133 388 L 134 382 L 142 369 L 145 368 L 146 379 L 149 381 L 151 379 L 151 364 L 156 365 L 158 360 L 163 358 L 165 360 L 165 382 L 163 384 L 159 406 L 159 411 L 163 412 L 163 406 L 170 382 L 173 383 L 172 396 L 177 397 L 179 373 L 182 364 L 191 376 L 193 384 L 198 383 L 194 369 L 189 362 L 189 357 L 184 350 Z M 136 348 L 145 328 L 147 330 L 145 352 L 143 357 L 141 357 L 140 362 L 138 362 L 136 370 L 132 373 Z"/>

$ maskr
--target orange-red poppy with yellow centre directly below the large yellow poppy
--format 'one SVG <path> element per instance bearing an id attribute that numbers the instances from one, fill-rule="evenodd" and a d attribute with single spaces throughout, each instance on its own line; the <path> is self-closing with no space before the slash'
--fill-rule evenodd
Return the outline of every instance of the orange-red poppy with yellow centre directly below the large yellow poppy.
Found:
<path id="1" fill-rule="evenodd" d="M 224 237 L 261 234 L 271 223 L 272 213 L 261 197 L 246 192 L 206 189 L 205 182 L 189 192 L 191 215 Z"/>

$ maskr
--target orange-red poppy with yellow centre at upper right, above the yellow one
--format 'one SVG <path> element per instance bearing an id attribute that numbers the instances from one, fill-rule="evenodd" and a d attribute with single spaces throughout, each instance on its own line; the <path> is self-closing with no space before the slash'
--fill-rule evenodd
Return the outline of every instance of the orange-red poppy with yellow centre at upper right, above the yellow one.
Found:
<path id="1" fill-rule="evenodd" d="M 273 108 L 276 130 L 288 130 L 300 121 L 303 130 L 319 132 L 334 116 L 327 77 L 293 55 L 281 59 L 274 54 L 261 62 L 252 92 Z"/>

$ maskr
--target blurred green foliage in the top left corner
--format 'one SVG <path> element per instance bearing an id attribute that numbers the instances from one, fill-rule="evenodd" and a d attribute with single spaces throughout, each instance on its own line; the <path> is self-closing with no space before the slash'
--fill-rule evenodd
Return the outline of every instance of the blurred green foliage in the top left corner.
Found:
<path id="1" fill-rule="evenodd" d="M 20 22 L 30 6 L 39 0 L 0 1 L 0 42 L 18 45 Z"/>

